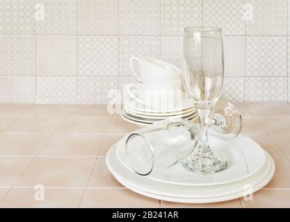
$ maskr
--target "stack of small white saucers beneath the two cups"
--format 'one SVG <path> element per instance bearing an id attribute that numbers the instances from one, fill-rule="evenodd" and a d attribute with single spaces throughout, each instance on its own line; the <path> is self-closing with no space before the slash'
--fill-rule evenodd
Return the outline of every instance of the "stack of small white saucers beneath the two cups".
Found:
<path id="1" fill-rule="evenodd" d="M 140 105 L 137 101 L 125 101 L 121 117 L 129 123 L 134 123 L 137 126 L 143 127 L 171 117 L 194 120 L 198 117 L 198 113 L 193 103 L 191 103 L 186 94 L 184 94 L 180 107 L 166 108 L 164 110 L 154 110 L 153 108 Z"/>

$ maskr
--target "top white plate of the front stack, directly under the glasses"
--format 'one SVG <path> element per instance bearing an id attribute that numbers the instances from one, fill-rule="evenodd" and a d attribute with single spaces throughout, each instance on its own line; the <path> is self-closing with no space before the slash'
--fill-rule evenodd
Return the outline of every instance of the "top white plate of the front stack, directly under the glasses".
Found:
<path id="1" fill-rule="evenodd" d="M 131 171 L 124 152 L 126 137 L 117 145 L 117 156 L 120 162 Z M 184 186 L 211 186 L 222 185 L 248 178 L 264 166 L 264 150 L 252 139 L 239 135 L 238 137 L 225 140 L 209 135 L 209 143 L 214 153 L 225 157 L 228 167 L 219 173 L 201 175 L 187 171 L 180 164 L 170 167 L 158 173 L 150 173 L 147 178 L 160 182 Z M 191 144 L 188 144 L 188 149 Z"/>

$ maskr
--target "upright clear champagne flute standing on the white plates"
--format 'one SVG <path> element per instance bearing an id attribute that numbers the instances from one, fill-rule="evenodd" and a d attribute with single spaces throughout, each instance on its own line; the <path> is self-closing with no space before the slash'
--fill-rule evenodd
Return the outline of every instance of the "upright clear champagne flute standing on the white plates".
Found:
<path id="1" fill-rule="evenodd" d="M 227 161 L 211 151 L 208 130 L 210 113 L 223 87 L 223 37 L 221 28 L 184 29 L 184 86 L 200 117 L 200 141 L 186 168 L 199 173 L 214 173 L 227 168 Z"/>

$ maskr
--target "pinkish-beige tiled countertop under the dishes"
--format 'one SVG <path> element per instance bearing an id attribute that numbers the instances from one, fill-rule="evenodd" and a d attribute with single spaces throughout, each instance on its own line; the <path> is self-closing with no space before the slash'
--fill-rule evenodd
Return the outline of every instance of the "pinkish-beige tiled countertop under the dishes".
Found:
<path id="1" fill-rule="evenodd" d="M 243 199 L 179 204 L 122 187 L 106 169 L 111 144 L 137 127 L 105 105 L 0 105 L 0 207 L 290 207 L 290 104 L 237 104 L 243 134 L 272 155 L 273 180 Z M 35 200 L 35 185 L 45 200 Z"/>

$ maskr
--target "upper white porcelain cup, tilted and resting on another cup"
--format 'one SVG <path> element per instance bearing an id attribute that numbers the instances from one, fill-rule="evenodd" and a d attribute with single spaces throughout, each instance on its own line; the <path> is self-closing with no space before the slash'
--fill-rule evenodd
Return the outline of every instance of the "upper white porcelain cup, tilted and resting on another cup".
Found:
<path id="1" fill-rule="evenodd" d="M 134 62 L 138 63 L 138 71 L 134 69 Z M 150 57 L 132 57 L 130 68 L 141 83 L 171 83 L 182 78 L 182 69 Z"/>

